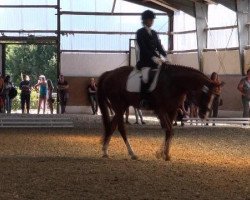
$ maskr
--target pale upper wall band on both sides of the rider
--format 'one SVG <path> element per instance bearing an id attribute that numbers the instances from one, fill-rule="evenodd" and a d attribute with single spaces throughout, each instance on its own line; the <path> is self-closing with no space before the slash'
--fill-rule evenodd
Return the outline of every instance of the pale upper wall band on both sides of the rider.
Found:
<path id="1" fill-rule="evenodd" d="M 174 64 L 199 69 L 197 53 L 169 54 L 168 57 Z M 221 66 L 219 57 L 225 70 Z M 132 56 L 131 58 L 132 65 L 134 65 L 135 57 Z M 204 52 L 203 58 L 205 74 L 211 74 L 214 71 L 219 74 L 241 74 L 238 50 L 219 51 L 218 53 L 215 51 Z M 248 69 L 250 67 L 250 50 L 245 51 L 245 59 L 245 68 Z M 63 53 L 61 56 L 61 71 L 65 76 L 100 76 L 105 71 L 128 64 L 128 54 Z"/>

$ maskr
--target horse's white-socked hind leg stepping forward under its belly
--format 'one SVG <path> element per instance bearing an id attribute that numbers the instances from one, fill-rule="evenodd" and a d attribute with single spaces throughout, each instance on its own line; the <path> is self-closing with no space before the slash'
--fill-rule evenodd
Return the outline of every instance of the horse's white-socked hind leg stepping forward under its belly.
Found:
<path id="1" fill-rule="evenodd" d="M 130 155 L 131 159 L 136 160 L 138 157 L 135 155 L 131 145 L 129 144 L 128 138 L 127 138 L 127 133 L 124 127 L 124 121 L 123 121 L 123 112 L 119 113 L 118 116 L 118 130 L 121 133 L 121 136 L 123 138 L 123 141 L 125 142 L 125 145 L 128 149 L 128 154 Z"/>

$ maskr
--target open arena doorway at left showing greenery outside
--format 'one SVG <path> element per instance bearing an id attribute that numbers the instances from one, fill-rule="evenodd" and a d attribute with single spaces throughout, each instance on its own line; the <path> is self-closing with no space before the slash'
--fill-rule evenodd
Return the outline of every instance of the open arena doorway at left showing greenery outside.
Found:
<path id="1" fill-rule="evenodd" d="M 27 75 L 31 83 L 30 113 L 37 114 L 39 90 L 34 86 L 37 84 L 39 76 L 44 75 L 47 81 L 53 85 L 53 112 L 56 113 L 57 93 L 56 81 L 57 70 L 57 47 L 55 44 L 5 44 L 4 49 L 4 68 L 3 74 L 9 75 L 11 81 L 18 91 L 18 95 L 12 102 L 12 113 L 21 113 L 21 89 L 19 88 L 23 76 Z M 45 113 L 51 113 L 48 102 Z"/>

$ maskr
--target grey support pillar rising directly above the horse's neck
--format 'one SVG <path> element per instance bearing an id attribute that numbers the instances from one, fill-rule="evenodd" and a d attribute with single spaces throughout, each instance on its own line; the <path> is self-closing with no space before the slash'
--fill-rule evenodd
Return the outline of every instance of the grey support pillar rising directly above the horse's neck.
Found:
<path id="1" fill-rule="evenodd" d="M 203 50 L 207 48 L 207 18 L 208 5 L 195 2 L 195 17 L 196 17 L 196 35 L 197 35 L 197 50 L 198 62 L 200 71 L 204 71 Z"/>

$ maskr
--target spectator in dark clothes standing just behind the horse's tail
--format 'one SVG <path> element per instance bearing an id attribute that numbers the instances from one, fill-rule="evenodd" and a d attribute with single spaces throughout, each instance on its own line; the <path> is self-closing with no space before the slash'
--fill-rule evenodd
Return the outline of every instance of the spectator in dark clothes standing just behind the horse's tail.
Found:
<path id="1" fill-rule="evenodd" d="M 88 93 L 93 115 L 96 115 L 98 112 L 98 101 L 97 101 L 97 85 L 94 78 L 90 79 L 90 84 L 88 86 Z"/>

